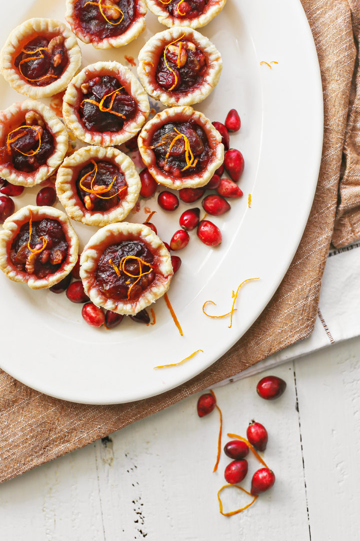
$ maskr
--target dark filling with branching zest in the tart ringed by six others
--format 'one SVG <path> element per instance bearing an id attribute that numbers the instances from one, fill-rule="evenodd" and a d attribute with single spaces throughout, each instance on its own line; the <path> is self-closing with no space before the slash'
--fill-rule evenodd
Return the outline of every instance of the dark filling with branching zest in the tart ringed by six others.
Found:
<path id="1" fill-rule="evenodd" d="M 82 85 L 82 88 L 86 94 L 84 92 L 82 94 L 79 115 L 87 130 L 100 133 L 120 131 L 123 129 L 124 122 L 131 120 L 137 113 L 137 103 L 121 87 L 116 77 L 110 75 L 94 77 Z M 104 96 L 107 97 L 101 104 Z"/>

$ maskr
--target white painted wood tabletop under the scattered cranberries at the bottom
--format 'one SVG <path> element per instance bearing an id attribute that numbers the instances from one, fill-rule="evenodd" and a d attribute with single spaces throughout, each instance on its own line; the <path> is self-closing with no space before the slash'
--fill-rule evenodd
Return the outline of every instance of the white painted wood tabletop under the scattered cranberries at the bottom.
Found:
<path id="1" fill-rule="evenodd" d="M 216 390 L 224 434 L 245 435 L 253 418 L 269 432 L 276 483 L 243 513 L 219 513 L 228 459 L 212 473 L 219 416 L 199 419 L 196 395 L 0 485 L 1 539 L 359 539 L 359 358 L 356 338 L 276 368 L 288 386 L 273 402 L 257 397 L 259 375 Z M 257 467 L 250 457 L 244 486 Z M 230 490 L 225 510 L 246 498 Z"/>

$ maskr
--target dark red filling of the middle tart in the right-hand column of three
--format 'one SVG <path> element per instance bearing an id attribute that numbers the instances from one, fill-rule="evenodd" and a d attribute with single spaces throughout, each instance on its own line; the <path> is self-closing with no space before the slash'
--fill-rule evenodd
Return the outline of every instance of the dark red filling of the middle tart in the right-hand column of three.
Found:
<path id="1" fill-rule="evenodd" d="M 176 42 L 162 50 L 155 80 L 164 90 L 176 92 L 189 90 L 200 85 L 206 73 L 206 56 L 188 41 Z M 169 69 L 170 68 L 170 69 Z"/>

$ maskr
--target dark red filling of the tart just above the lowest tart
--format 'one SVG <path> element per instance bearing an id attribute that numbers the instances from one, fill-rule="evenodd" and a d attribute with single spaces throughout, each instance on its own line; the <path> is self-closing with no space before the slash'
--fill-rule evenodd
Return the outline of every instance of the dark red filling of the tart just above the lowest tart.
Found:
<path id="1" fill-rule="evenodd" d="M 87 166 L 81 169 L 76 181 L 77 193 L 87 210 L 93 210 L 94 212 L 106 212 L 107 210 L 116 207 L 126 196 L 127 184 L 125 182 L 125 175 L 124 173 L 121 173 L 116 165 L 110 162 L 97 162 L 97 170 L 93 171 L 93 169 L 93 163 L 89 163 Z M 91 173 L 91 171 L 93 172 Z M 93 192 L 96 193 L 89 193 L 82 189 L 79 185 L 81 179 L 83 179 L 81 181 L 81 186 L 87 188 L 88 190 L 93 190 Z M 115 181 L 113 182 L 114 179 Z M 105 188 L 111 186 L 111 188 L 107 192 L 102 192 L 101 190 L 101 193 L 99 190 L 97 190 L 97 187 L 100 186 Z"/>

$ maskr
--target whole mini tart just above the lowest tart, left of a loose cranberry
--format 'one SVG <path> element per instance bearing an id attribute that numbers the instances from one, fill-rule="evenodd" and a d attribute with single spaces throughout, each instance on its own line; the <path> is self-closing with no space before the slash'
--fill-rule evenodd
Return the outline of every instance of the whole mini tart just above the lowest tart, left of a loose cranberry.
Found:
<path id="1" fill-rule="evenodd" d="M 56 192 L 67 214 L 88 226 L 124 220 L 140 188 L 132 160 L 111 147 L 80 148 L 65 158 L 56 178 Z"/>

